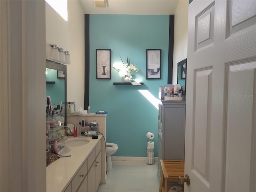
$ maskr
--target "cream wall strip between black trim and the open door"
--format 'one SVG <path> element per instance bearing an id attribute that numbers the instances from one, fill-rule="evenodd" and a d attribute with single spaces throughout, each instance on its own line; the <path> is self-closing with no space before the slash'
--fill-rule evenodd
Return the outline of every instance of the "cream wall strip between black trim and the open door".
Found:
<path id="1" fill-rule="evenodd" d="M 188 0 L 179 0 L 174 14 L 174 57 L 172 84 L 177 83 L 178 62 L 188 56 Z M 189 65 L 189 63 L 188 63 Z"/>

